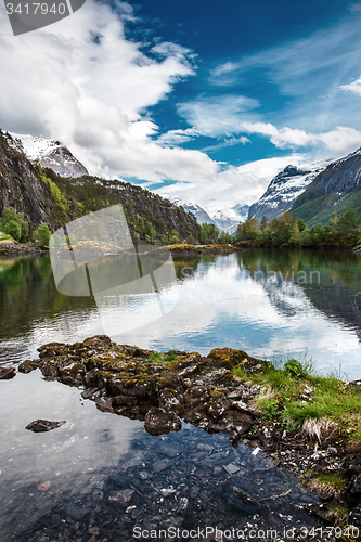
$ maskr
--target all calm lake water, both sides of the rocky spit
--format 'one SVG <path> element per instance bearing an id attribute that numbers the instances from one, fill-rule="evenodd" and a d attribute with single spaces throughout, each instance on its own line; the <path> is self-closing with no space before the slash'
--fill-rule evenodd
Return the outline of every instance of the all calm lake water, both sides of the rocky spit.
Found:
<path id="1" fill-rule="evenodd" d="M 132 332 L 114 314 L 143 299 L 89 297 L 55 289 L 48 256 L 0 261 L 0 362 L 17 364 L 51 340 L 75 341 L 113 330 L 120 343 L 208 353 L 242 348 L 272 359 L 312 357 L 320 371 L 361 377 L 361 258 L 349 251 L 257 250 L 177 261 L 177 281 L 159 293 L 179 298 L 166 317 Z M 261 452 L 233 449 L 223 435 L 189 425 L 150 437 L 143 423 L 99 412 L 80 390 L 38 371 L 0 382 L 0 539 L 130 541 L 134 527 L 282 529 L 313 525 L 297 505 L 315 502 Z M 64 420 L 46 434 L 25 426 Z M 234 474 L 224 468 L 232 464 Z M 245 508 L 237 487 L 258 502 Z M 112 504 L 128 490 L 129 503 Z M 111 501 L 109 501 L 111 498 Z M 249 529 L 249 527 L 248 527 Z M 138 538 L 138 540 L 142 540 Z M 186 540 L 177 538 L 177 540 Z M 198 540 L 202 540 L 199 538 Z"/>

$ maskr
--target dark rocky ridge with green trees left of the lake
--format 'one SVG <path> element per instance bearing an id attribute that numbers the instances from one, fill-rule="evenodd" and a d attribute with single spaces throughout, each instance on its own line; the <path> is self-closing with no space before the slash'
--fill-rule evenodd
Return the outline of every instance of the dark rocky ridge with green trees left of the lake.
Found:
<path id="1" fill-rule="evenodd" d="M 168 199 L 123 181 L 60 177 L 50 168 L 31 164 L 0 130 L 0 214 L 5 207 L 14 207 L 24 214 L 30 231 L 43 222 L 54 231 L 88 212 L 117 204 L 123 205 L 137 238 L 168 243 L 177 236 L 198 236 L 193 215 Z"/>

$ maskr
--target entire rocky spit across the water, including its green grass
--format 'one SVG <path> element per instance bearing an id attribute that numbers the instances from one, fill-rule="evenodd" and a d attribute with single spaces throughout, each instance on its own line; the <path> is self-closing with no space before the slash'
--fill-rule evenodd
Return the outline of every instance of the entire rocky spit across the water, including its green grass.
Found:
<path id="1" fill-rule="evenodd" d="M 156 352 L 103 335 L 38 350 L 20 372 L 76 386 L 99 410 L 143 420 L 151 435 L 184 421 L 228 434 L 234 447 L 259 447 L 317 491 L 321 504 L 305 505 L 308 513 L 361 527 L 361 380 L 320 376 L 294 359 L 281 367 L 232 348 Z"/>

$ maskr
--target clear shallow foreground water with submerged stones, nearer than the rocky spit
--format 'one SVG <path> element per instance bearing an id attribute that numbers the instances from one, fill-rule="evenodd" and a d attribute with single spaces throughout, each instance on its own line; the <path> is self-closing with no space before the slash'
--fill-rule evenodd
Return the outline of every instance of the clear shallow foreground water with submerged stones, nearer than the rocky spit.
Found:
<path id="1" fill-rule="evenodd" d="M 44 382 L 38 372 L 0 388 L 2 542 L 91 535 L 129 542 L 136 528 L 198 526 L 276 529 L 282 538 L 285 528 L 315 525 L 299 506 L 317 496 L 278 470 L 276 461 L 244 444 L 232 448 L 225 435 L 183 425 L 151 437 L 141 422 L 101 413 L 80 401 L 78 389 Z M 27 431 L 37 417 L 67 424 Z"/>

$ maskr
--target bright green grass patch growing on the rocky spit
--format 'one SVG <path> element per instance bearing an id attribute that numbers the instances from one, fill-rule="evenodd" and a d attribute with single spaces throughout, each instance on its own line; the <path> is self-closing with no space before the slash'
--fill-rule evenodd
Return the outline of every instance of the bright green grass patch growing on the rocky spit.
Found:
<path id="1" fill-rule="evenodd" d="M 361 442 L 361 392 L 336 376 L 320 376 L 312 363 L 297 360 L 261 374 L 246 374 L 241 366 L 233 372 L 262 386 L 256 406 L 266 420 L 319 440 L 327 435 L 348 444 Z"/>

